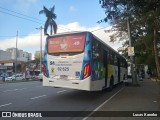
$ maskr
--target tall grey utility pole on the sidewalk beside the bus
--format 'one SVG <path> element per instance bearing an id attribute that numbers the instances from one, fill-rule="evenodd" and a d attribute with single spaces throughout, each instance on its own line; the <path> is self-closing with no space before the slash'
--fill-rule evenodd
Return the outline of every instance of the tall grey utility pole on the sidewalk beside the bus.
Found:
<path id="1" fill-rule="evenodd" d="M 129 19 L 129 12 L 128 12 L 128 5 L 127 5 L 127 29 L 128 29 L 128 37 L 129 37 L 129 47 L 133 47 L 132 43 L 132 37 L 131 37 L 131 27 L 130 27 L 130 19 Z M 134 63 L 134 57 L 130 56 L 130 62 L 131 62 L 131 74 L 132 74 L 132 84 L 137 85 L 137 74 L 135 70 L 135 63 Z M 134 64 L 134 66 L 133 66 Z"/>

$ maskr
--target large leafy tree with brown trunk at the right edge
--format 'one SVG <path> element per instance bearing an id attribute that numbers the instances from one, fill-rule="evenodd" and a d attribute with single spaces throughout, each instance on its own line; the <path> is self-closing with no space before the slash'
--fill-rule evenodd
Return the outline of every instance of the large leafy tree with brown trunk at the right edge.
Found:
<path id="1" fill-rule="evenodd" d="M 136 51 L 141 52 L 139 55 L 149 55 L 154 51 L 154 59 L 158 77 L 160 77 L 160 64 L 158 58 L 158 31 L 160 30 L 160 1 L 159 0 L 100 0 L 102 8 L 105 9 L 106 17 L 99 22 L 114 21 L 114 28 L 126 30 L 126 26 L 122 23 L 126 21 L 127 16 L 131 22 L 131 35 L 134 46 L 141 45 L 142 49 Z M 128 13 L 126 14 L 126 7 Z M 117 38 L 120 37 L 120 32 L 116 33 Z M 152 38 L 151 38 L 152 36 Z M 113 41 L 113 40 L 112 40 Z M 141 43 L 139 45 L 139 43 Z M 147 45 L 150 43 L 149 45 Z M 152 45 L 152 46 L 151 46 Z M 148 49 L 149 48 L 149 49 Z M 136 50 L 136 49 L 135 49 Z"/>

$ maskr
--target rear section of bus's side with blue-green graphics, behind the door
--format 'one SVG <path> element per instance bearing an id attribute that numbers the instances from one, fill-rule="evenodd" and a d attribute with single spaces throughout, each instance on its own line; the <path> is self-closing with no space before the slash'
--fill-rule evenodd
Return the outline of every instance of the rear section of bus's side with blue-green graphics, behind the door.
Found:
<path id="1" fill-rule="evenodd" d="M 104 66 L 104 62 L 107 61 L 107 57 L 106 59 L 103 59 L 103 57 L 104 51 L 101 49 L 101 43 L 98 42 L 95 38 L 92 38 L 92 91 L 102 90 L 107 85 L 107 83 L 105 83 L 107 82 L 105 81 L 107 69 Z"/>

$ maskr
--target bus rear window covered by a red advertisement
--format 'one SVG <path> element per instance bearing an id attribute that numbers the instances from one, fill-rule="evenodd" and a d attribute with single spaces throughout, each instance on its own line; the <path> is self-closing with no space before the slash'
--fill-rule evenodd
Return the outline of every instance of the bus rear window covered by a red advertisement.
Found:
<path id="1" fill-rule="evenodd" d="M 65 35 L 48 39 L 48 53 L 82 52 L 85 34 Z"/>

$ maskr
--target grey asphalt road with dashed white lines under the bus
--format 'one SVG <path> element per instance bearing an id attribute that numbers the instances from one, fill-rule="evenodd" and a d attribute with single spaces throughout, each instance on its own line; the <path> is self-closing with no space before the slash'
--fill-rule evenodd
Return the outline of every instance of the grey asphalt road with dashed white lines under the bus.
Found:
<path id="1" fill-rule="evenodd" d="M 92 111 L 110 99 L 124 85 L 113 91 L 87 92 L 66 88 L 43 87 L 39 81 L 0 84 L 0 111 Z M 15 118 L 16 120 L 18 118 Z M 39 118 L 38 118 L 39 119 Z M 74 117 L 55 117 L 75 119 Z"/>

